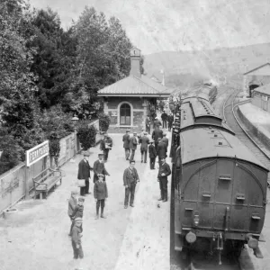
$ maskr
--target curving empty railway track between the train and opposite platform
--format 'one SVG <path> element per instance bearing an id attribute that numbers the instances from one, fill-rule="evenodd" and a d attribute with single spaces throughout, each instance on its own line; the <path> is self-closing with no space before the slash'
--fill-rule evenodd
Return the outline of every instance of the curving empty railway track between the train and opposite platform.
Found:
<path id="1" fill-rule="evenodd" d="M 238 95 L 238 91 L 229 94 L 227 100 L 223 103 L 223 119 L 227 122 L 229 127 L 235 132 L 238 139 L 240 139 L 251 152 L 255 154 L 258 160 L 264 164 L 270 170 L 270 157 L 263 149 L 263 145 L 255 141 L 245 130 L 243 124 L 241 124 L 236 108 L 239 103 L 235 103 L 235 98 Z M 270 184 L 270 173 L 267 178 L 268 186 Z"/>

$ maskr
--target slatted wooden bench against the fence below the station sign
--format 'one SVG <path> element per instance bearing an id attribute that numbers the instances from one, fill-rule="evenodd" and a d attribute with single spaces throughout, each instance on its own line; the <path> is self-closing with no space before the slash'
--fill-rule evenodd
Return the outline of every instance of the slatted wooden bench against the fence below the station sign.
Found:
<path id="1" fill-rule="evenodd" d="M 51 168 L 47 168 L 39 175 L 33 177 L 32 182 L 34 185 L 35 198 L 37 194 L 40 194 L 40 199 L 42 199 L 42 193 L 46 193 L 47 199 L 49 190 L 55 187 L 58 181 L 60 181 L 60 184 L 62 184 L 61 171 L 53 170 Z"/>

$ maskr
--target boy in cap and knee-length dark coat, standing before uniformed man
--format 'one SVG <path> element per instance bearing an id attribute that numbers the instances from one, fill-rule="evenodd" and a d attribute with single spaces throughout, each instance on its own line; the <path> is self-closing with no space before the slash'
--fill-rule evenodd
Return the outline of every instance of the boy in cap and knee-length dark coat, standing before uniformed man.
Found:
<path id="1" fill-rule="evenodd" d="M 103 215 L 104 207 L 105 207 L 105 200 L 108 198 L 108 189 L 107 184 L 103 181 L 104 175 L 98 175 L 98 181 L 94 183 L 94 199 L 96 202 L 96 215 L 95 220 L 99 219 L 99 208 L 101 206 L 101 215 L 102 219 L 106 219 Z"/>

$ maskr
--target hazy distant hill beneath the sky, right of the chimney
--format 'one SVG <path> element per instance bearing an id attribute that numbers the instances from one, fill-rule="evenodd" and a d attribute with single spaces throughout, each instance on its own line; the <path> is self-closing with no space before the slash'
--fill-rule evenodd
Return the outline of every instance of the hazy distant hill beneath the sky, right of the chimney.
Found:
<path id="1" fill-rule="evenodd" d="M 165 71 L 168 86 L 197 84 L 204 79 L 218 83 L 234 76 L 241 79 L 247 70 L 270 61 L 270 43 L 237 48 L 193 51 L 162 51 L 145 56 L 144 67 L 148 76 L 161 79 Z M 236 76 L 239 75 L 239 76 Z"/>

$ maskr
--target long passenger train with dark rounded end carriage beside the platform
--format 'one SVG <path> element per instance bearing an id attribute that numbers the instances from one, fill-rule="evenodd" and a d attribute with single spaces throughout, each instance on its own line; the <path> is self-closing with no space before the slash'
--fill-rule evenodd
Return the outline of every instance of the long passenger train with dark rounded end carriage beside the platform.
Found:
<path id="1" fill-rule="evenodd" d="M 239 256 L 244 244 L 262 257 L 268 170 L 214 112 L 213 85 L 176 104 L 172 132 L 175 250 L 225 247 Z M 221 264 L 221 261 L 220 261 Z"/>

